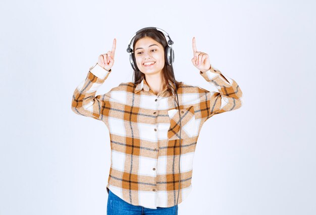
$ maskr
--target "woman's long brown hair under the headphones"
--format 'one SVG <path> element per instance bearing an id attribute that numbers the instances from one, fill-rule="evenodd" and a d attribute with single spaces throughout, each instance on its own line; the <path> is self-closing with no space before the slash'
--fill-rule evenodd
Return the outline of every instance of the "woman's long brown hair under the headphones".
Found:
<path id="1" fill-rule="evenodd" d="M 156 29 L 144 29 L 140 31 L 139 33 L 137 33 L 133 42 L 133 50 L 135 50 L 136 42 L 139 39 L 146 36 L 154 39 L 156 42 L 159 42 L 164 47 L 164 52 L 166 51 L 166 48 L 168 47 L 166 37 L 161 31 L 156 30 Z M 165 53 L 165 56 L 166 56 L 166 53 Z M 143 80 L 143 78 L 145 77 L 145 74 L 142 73 L 136 65 L 135 52 L 133 53 L 133 59 L 135 62 L 135 67 L 136 67 L 136 70 L 134 70 L 135 76 L 134 76 L 133 82 L 134 84 L 138 84 Z M 163 81 L 165 82 L 165 85 L 167 86 L 167 90 L 169 91 L 170 95 L 173 95 L 173 92 L 176 92 L 176 89 L 174 89 L 173 86 L 169 84 L 169 80 L 176 83 L 177 89 L 179 89 L 180 85 L 183 85 L 182 81 L 179 82 L 177 80 L 173 80 L 173 75 L 174 75 L 173 67 L 172 65 L 168 64 L 165 58 L 165 66 L 163 68 Z"/>

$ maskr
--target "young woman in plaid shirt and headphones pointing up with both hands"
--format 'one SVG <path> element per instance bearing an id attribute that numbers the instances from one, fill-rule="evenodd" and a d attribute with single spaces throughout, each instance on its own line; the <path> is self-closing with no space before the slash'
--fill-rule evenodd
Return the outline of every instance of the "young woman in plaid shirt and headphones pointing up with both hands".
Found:
<path id="1" fill-rule="evenodd" d="M 210 65 L 208 55 L 197 51 L 194 37 L 196 74 L 219 92 L 176 81 L 172 44 L 162 29 L 137 31 L 128 49 L 134 81 L 95 96 L 112 72 L 114 39 L 112 50 L 99 55 L 75 89 L 72 110 L 103 121 L 110 132 L 108 215 L 178 214 L 178 204 L 192 189 L 193 156 L 203 123 L 241 107 L 242 92 L 236 81 Z"/>

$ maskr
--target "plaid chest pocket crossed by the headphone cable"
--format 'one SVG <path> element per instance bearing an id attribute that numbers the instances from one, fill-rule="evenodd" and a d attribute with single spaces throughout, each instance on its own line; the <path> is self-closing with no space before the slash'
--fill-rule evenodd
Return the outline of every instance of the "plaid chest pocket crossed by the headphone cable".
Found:
<path id="1" fill-rule="evenodd" d="M 168 130 L 168 139 L 176 140 L 180 138 L 180 118 L 178 109 L 168 110 L 170 127 Z M 181 139 L 191 138 L 194 136 L 194 107 L 190 106 L 184 109 L 180 109 L 181 116 Z"/>

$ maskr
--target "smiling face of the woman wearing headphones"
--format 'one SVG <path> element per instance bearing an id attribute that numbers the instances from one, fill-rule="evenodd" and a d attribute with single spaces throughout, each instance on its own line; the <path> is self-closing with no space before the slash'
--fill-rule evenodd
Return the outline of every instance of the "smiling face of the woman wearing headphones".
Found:
<path id="1" fill-rule="evenodd" d="M 143 37 L 135 44 L 135 59 L 138 69 L 144 74 L 161 73 L 165 66 L 165 49 L 151 37 Z M 145 65 L 144 63 L 153 63 Z"/>

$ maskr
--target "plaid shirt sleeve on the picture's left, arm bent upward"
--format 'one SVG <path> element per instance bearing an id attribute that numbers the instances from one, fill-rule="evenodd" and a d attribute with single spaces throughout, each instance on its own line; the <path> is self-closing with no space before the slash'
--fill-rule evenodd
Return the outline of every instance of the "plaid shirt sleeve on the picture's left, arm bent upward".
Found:
<path id="1" fill-rule="evenodd" d="M 103 84 L 111 73 L 102 68 L 97 63 L 89 68 L 87 77 L 82 80 L 75 89 L 71 109 L 79 115 L 102 120 L 103 116 L 108 116 L 110 107 L 111 92 L 95 96 L 97 89 Z"/>

